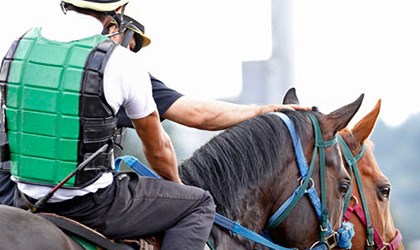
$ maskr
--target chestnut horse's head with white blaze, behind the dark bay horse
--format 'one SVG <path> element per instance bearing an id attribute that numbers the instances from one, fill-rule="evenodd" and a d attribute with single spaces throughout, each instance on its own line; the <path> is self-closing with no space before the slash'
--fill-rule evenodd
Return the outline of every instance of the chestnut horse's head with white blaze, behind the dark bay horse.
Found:
<path id="1" fill-rule="evenodd" d="M 392 249 L 404 249 L 401 234 L 394 225 L 390 211 L 391 183 L 379 169 L 373 154 L 373 143 L 368 139 L 375 127 L 380 107 L 381 100 L 351 130 L 339 132 L 345 142 L 343 149 L 347 147 L 351 151 L 351 154 L 345 155 L 346 151 L 343 150 L 346 161 L 349 161 L 347 170 L 353 178 L 353 191 L 345 219 L 354 224 L 355 249 L 366 248 L 368 224 L 373 227 L 370 244 L 376 244 L 378 249 L 386 244 L 393 244 Z M 366 218 L 369 215 L 370 218 Z"/>

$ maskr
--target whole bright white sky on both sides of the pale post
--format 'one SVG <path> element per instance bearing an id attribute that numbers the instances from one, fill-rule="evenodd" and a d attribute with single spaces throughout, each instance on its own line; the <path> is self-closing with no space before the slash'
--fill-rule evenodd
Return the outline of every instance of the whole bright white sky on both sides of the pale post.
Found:
<path id="1" fill-rule="evenodd" d="M 380 118 L 390 126 L 420 112 L 417 2 L 291 1 L 288 25 L 295 64 L 290 84 L 301 103 L 328 113 L 365 93 L 358 115 L 381 98 Z M 61 15 L 58 3 L 0 1 L 0 55 L 30 27 Z M 184 94 L 236 96 L 242 61 L 271 55 L 270 0 L 141 0 L 139 6 L 152 39 L 139 58 L 151 73 Z"/>

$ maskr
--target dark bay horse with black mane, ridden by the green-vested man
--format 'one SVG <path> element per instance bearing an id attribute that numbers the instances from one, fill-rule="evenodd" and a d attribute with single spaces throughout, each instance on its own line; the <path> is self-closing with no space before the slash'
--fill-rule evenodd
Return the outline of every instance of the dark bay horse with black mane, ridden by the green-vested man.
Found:
<path id="1" fill-rule="evenodd" d="M 313 175 L 310 186 L 318 196 L 326 197 L 326 215 L 332 230 L 341 227 L 345 194 L 350 188 L 350 176 L 344 168 L 337 143 L 324 145 L 325 155 L 316 154 L 316 144 L 328 144 L 336 133 L 345 128 L 359 109 L 363 95 L 354 102 L 329 114 L 317 111 L 285 111 L 293 121 L 300 136 L 305 161 L 312 162 Z M 315 127 L 310 115 L 316 117 L 321 131 L 321 139 L 315 143 Z M 314 156 L 314 157 L 312 157 Z M 320 165 L 325 162 L 325 176 L 320 173 Z M 322 171 L 321 171 L 322 172 Z M 294 193 L 303 179 L 300 178 L 291 135 L 285 123 L 276 114 L 262 115 L 225 130 L 196 150 L 193 156 L 180 165 L 182 180 L 186 184 L 209 190 L 215 198 L 218 213 L 239 222 L 257 232 L 266 231 L 267 221 L 278 208 Z M 322 179 L 326 181 L 326 191 L 322 189 Z M 306 182 L 306 179 L 305 179 Z M 305 186 L 306 188 L 306 186 Z M 0 242 L 17 242 L 36 236 L 39 230 L 45 235 L 56 233 L 57 227 L 46 225 L 43 229 L 33 229 L 32 224 L 16 223 L 16 217 L 6 216 L 4 206 L 0 206 Z M 16 210 L 10 208 L 12 210 Z M 25 220 L 38 216 L 25 212 Z M 12 219 L 13 218 L 13 219 Z M 41 218 L 42 219 L 42 218 Z M 157 218 L 158 219 L 158 218 Z M 10 225 L 13 225 L 11 227 Z M 13 228 L 11 234 L 3 232 Z M 24 230 L 25 229 L 25 230 Z M 273 242 L 284 247 L 309 248 L 320 240 L 320 218 L 306 196 L 300 199 L 290 214 L 276 227 L 265 233 Z M 186 232 L 188 233 L 188 232 Z M 44 234 L 43 234 L 44 235 Z M 36 240 L 33 237 L 32 240 Z M 41 241 L 41 242 L 39 242 Z M 41 247 L 45 238 L 40 239 L 39 249 L 51 249 L 51 244 L 61 244 L 61 236 L 50 239 Z M 58 242 L 57 242 L 58 241 Z M 253 249 L 258 244 L 241 236 L 214 226 L 209 241 L 216 249 Z M 23 242 L 23 241 L 22 241 Z M 69 242 L 67 239 L 66 242 Z M 32 249 L 31 245 L 18 245 L 20 249 Z M 38 246 L 38 245 L 37 245 Z M 26 247 L 26 248 L 25 248 Z M 72 249 L 71 245 L 61 249 Z M 55 248 L 54 248 L 55 249 Z M 74 248 L 77 249 L 77 248 Z"/>

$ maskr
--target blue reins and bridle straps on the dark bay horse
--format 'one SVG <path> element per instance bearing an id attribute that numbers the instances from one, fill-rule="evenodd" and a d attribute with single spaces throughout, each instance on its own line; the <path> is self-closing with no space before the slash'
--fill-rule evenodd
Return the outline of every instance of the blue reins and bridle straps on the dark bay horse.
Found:
<path id="1" fill-rule="evenodd" d="M 314 188 L 313 180 L 311 178 L 312 171 L 313 171 L 313 165 L 315 163 L 315 156 L 317 153 L 317 150 L 314 150 L 314 154 L 311 160 L 311 167 L 308 168 L 308 165 L 306 163 L 306 159 L 303 153 L 302 144 L 299 138 L 298 133 L 296 132 L 296 129 L 294 127 L 294 124 L 292 120 L 287 117 L 283 113 L 273 113 L 280 117 L 283 122 L 286 124 L 286 126 L 289 129 L 290 135 L 292 137 L 293 141 L 293 147 L 296 152 L 296 160 L 298 162 L 299 166 L 299 172 L 301 174 L 301 185 L 295 190 L 295 192 L 292 194 L 289 199 L 286 200 L 286 202 L 273 214 L 273 216 L 270 217 L 268 220 L 268 225 L 266 226 L 266 232 L 264 235 L 260 235 L 248 228 L 243 227 L 236 221 L 232 221 L 225 216 L 216 213 L 215 216 L 215 224 L 225 228 L 232 233 L 241 235 L 242 237 L 245 237 L 249 240 L 252 240 L 256 243 L 259 243 L 261 245 L 264 245 L 270 249 L 275 250 L 288 250 L 288 249 L 294 249 L 294 248 L 286 248 L 282 247 L 280 245 L 275 244 L 273 241 L 271 241 L 268 238 L 268 230 L 277 227 L 291 212 L 291 210 L 296 205 L 297 201 L 305 194 L 307 193 L 309 195 L 309 198 L 311 200 L 311 203 L 313 207 L 315 208 L 315 211 L 317 213 L 318 218 L 321 221 L 321 232 L 320 232 L 320 241 L 316 242 L 311 249 L 329 249 L 330 247 L 333 247 L 332 245 L 328 244 L 328 239 L 333 238 L 334 240 L 334 246 L 337 245 L 336 242 L 338 242 L 338 246 L 341 248 L 351 248 L 351 237 L 354 235 L 353 227 L 350 223 L 351 227 L 349 225 L 344 226 L 345 223 L 343 223 L 343 227 L 339 230 L 339 232 L 333 232 L 331 229 L 331 226 L 328 222 L 328 210 L 326 209 L 326 201 L 325 201 L 325 195 L 323 195 L 323 201 L 321 202 L 318 194 L 316 193 L 316 190 Z M 314 128 L 316 131 L 316 135 L 320 133 L 318 122 L 315 118 L 315 116 L 310 115 L 312 123 L 314 124 Z M 317 130 L 318 129 L 318 130 Z M 320 160 L 324 161 L 324 167 L 325 167 L 325 147 L 330 147 L 334 145 L 337 142 L 337 139 L 334 138 L 331 141 L 323 141 L 322 136 L 321 138 L 317 138 L 319 136 L 315 136 L 315 147 L 319 148 L 320 151 Z M 322 149 L 322 150 L 321 150 Z M 321 155 L 322 154 L 322 155 Z M 160 178 L 160 176 L 155 173 L 153 170 L 148 168 L 146 165 L 142 164 L 138 159 L 136 159 L 133 156 L 122 156 L 118 157 L 115 160 L 115 170 L 118 171 L 121 161 L 124 161 L 129 167 L 131 167 L 134 171 L 136 171 L 138 174 L 146 177 L 152 177 L 152 178 Z M 321 164 L 321 163 L 320 163 Z M 322 169 L 322 168 L 321 168 Z M 325 169 L 323 170 L 325 172 Z M 321 171 L 321 176 L 325 176 L 325 173 Z M 322 178 L 321 178 L 322 179 Z M 311 187 L 308 188 L 309 183 L 311 183 Z M 324 189 L 322 188 L 324 187 Z M 325 194 L 325 183 L 321 183 L 321 194 Z M 341 231 L 341 234 L 340 234 Z M 351 235 L 351 232 L 353 232 L 353 235 Z M 345 237 L 345 235 L 351 235 L 351 237 Z M 346 240 L 344 240 L 346 238 Z M 340 244 L 341 242 L 341 244 Z M 348 247 L 349 246 L 349 247 Z"/>

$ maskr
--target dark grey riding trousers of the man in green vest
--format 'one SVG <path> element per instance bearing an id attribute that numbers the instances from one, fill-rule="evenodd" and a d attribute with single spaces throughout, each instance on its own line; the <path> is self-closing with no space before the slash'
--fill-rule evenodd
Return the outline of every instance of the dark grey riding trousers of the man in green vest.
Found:
<path id="1" fill-rule="evenodd" d="M 139 239 L 163 232 L 162 249 L 204 249 L 215 205 L 202 189 L 119 173 L 107 188 L 39 211 L 67 216 L 111 239 Z"/>

